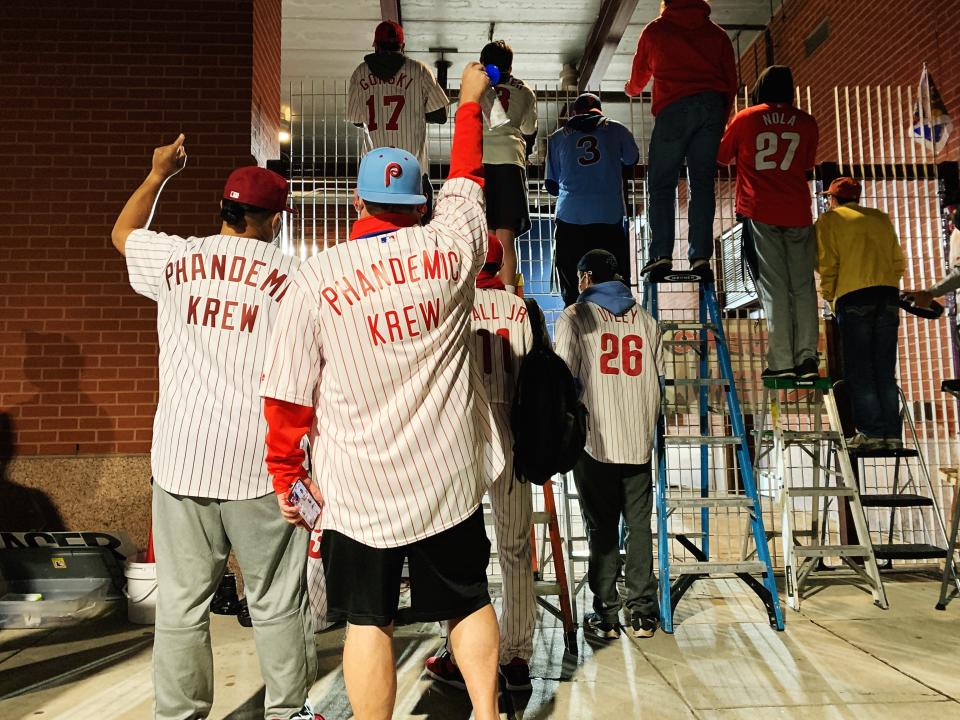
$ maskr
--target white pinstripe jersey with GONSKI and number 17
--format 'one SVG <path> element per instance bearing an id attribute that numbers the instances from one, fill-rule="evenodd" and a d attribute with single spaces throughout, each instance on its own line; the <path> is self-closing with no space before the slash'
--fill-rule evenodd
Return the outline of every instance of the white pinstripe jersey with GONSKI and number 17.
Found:
<path id="1" fill-rule="evenodd" d="M 350 76 L 347 120 L 363 123 L 375 147 L 397 147 L 417 158 L 424 175 L 430 173 L 427 155 L 426 114 L 450 104 L 430 68 L 405 58 L 389 80 L 383 80 L 365 63 Z"/>

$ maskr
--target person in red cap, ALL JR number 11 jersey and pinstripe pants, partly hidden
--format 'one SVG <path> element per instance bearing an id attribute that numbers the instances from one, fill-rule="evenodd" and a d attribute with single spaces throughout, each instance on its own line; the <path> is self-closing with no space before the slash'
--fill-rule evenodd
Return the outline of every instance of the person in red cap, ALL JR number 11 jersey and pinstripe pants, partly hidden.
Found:
<path id="1" fill-rule="evenodd" d="M 523 298 L 504 292 L 497 276 L 503 264 L 503 248 L 493 233 L 487 261 L 477 275 L 473 304 L 473 366 L 487 388 L 506 462 L 490 486 L 490 507 L 497 536 L 497 559 L 503 580 L 500 611 L 500 677 L 507 690 L 531 690 L 530 657 L 537 603 L 533 590 L 530 528 L 533 523 L 533 493 L 528 482 L 514 475 L 510 409 L 520 363 L 533 347 L 533 333 Z M 536 307 L 536 305 L 532 305 Z M 543 325 L 546 327 L 546 325 Z M 546 338 L 549 343 L 549 338 Z M 463 675 L 446 646 L 427 658 L 427 673 L 434 679 L 464 689 Z"/>

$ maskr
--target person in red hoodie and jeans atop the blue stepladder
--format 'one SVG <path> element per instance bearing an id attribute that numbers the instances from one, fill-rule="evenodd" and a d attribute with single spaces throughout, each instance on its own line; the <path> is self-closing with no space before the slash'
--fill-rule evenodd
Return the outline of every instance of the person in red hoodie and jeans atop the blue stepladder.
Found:
<path id="1" fill-rule="evenodd" d="M 640 33 L 624 91 L 643 92 L 653 78 L 647 179 L 650 186 L 649 261 L 641 275 L 673 267 L 677 179 L 687 163 L 690 188 L 690 269 L 709 269 L 716 210 L 717 147 L 737 93 L 737 66 L 726 31 L 710 21 L 704 0 L 662 0 L 660 17 Z"/>

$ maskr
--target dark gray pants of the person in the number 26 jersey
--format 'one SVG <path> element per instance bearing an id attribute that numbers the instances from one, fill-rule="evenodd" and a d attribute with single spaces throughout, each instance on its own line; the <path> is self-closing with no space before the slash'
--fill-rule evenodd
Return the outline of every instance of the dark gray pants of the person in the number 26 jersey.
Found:
<path id="1" fill-rule="evenodd" d="M 653 511 L 650 463 L 604 463 L 584 451 L 573 468 L 573 480 L 587 524 L 590 545 L 587 584 L 593 593 L 594 611 L 606 622 L 618 620 L 622 604 L 617 592 L 622 515 L 627 526 L 627 561 L 623 573 L 627 609 L 631 615 L 659 619 L 650 528 Z"/>

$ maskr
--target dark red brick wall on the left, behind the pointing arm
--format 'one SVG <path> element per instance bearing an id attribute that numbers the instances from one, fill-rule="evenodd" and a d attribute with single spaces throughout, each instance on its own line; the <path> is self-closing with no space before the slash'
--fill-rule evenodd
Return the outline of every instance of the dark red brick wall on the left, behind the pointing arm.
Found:
<path id="1" fill-rule="evenodd" d="M 183 131 L 153 227 L 216 231 L 227 173 L 278 153 L 279 23 L 280 0 L 0 3 L 0 409 L 19 455 L 149 450 L 155 308 L 110 229 Z"/>

